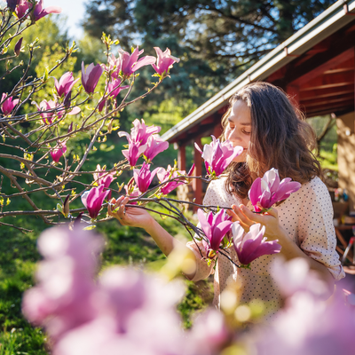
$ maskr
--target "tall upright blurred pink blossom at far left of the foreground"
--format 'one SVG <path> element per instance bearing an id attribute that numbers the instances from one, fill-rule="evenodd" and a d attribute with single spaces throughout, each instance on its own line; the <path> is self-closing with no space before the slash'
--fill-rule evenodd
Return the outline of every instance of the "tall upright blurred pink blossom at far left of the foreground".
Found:
<path id="1" fill-rule="evenodd" d="M 93 278 L 104 241 L 81 229 L 47 229 L 38 239 L 44 256 L 36 272 L 37 285 L 23 296 L 22 312 L 51 339 L 93 319 L 98 312 Z"/>

